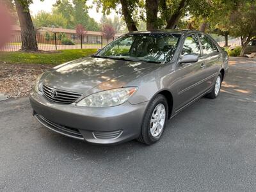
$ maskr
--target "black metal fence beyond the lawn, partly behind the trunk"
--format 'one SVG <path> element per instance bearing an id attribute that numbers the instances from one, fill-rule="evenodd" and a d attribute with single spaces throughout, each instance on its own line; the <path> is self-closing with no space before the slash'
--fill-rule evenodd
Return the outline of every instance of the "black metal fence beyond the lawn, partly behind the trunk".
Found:
<path id="1" fill-rule="evenodd" d="M 63 49 L 101 49 L 114 40 L 107 40 L 102 35 L 77 35 L 72 33 L 36 33 L 38 49 L 56 51 Z M 12 34 L 10 41 L 0 51 L 19 51 L 21 49 L 20 33 Z"/>

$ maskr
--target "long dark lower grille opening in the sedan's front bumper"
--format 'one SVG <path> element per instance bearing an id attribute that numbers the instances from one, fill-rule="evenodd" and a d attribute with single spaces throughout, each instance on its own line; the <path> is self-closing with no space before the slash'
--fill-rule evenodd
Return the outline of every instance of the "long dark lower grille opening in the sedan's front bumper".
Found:
<path id="1" fill-rule="evenodd" d="M 72 127 L 67 127 L 64 125 L 56 124 L 54 122 L 51 122 L 50 120 L 47 120 L 44 118 L 42 115 L 35 115 L 35 118 L 45 127 L 51 129 L 52 131 L 59 132 L 60 134 L 64 134 L 66 136 L 70 136 L 72 138 L 80 139 L 83 140 L 83 135 L 79 132 L 78 129 L 72 128 Z"/>

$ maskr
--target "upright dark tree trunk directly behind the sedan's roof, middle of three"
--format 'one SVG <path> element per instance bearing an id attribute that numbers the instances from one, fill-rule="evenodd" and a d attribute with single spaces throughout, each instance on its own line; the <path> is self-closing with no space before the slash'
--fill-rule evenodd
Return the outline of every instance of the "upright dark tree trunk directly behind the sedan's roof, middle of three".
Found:
<path id="1" fill-rule="evenodd" d="M 146 0 L 147 30 L 157 29 L 157 13 L 159 0 Z"/>

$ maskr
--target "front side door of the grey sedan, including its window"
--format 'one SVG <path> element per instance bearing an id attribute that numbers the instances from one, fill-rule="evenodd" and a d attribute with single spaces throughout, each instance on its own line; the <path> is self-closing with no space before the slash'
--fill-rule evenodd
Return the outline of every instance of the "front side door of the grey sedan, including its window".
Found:
<path id="1" fill-rule="evenodd" d="M 195 63 L 177 64 L 177 102 L 175 102 L 175 111 L 178 112 L 188 102 L 202 94 L 202 72 L 205 64 L 201 58 L 200 43 L 196 33 L 186 36 L 180 57 L 186 54 L 198 54 L 199 59 Z"/>

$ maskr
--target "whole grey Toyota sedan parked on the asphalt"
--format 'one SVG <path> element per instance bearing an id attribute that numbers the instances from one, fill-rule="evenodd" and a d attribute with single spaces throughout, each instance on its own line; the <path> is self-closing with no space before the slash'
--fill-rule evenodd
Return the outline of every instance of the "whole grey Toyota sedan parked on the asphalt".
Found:
<path id="1" fill-rule="evenodd" d="M 200 31 L 136 31 L 42 74 L 30 102 L 38 122 L 65 136 L 150 145 L 168 118 L 218 97 L 227 70 L 227 52 Z"/>

